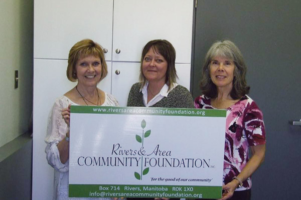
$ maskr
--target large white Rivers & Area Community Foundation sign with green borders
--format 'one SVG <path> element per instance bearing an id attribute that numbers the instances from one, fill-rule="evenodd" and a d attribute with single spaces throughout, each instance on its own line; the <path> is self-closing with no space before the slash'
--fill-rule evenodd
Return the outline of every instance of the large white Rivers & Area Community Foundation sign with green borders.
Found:
<path id="1" fill-rule="evenodd" d="M 220 198 L 226 110 L 72 106 L 69 196 Z"/>

